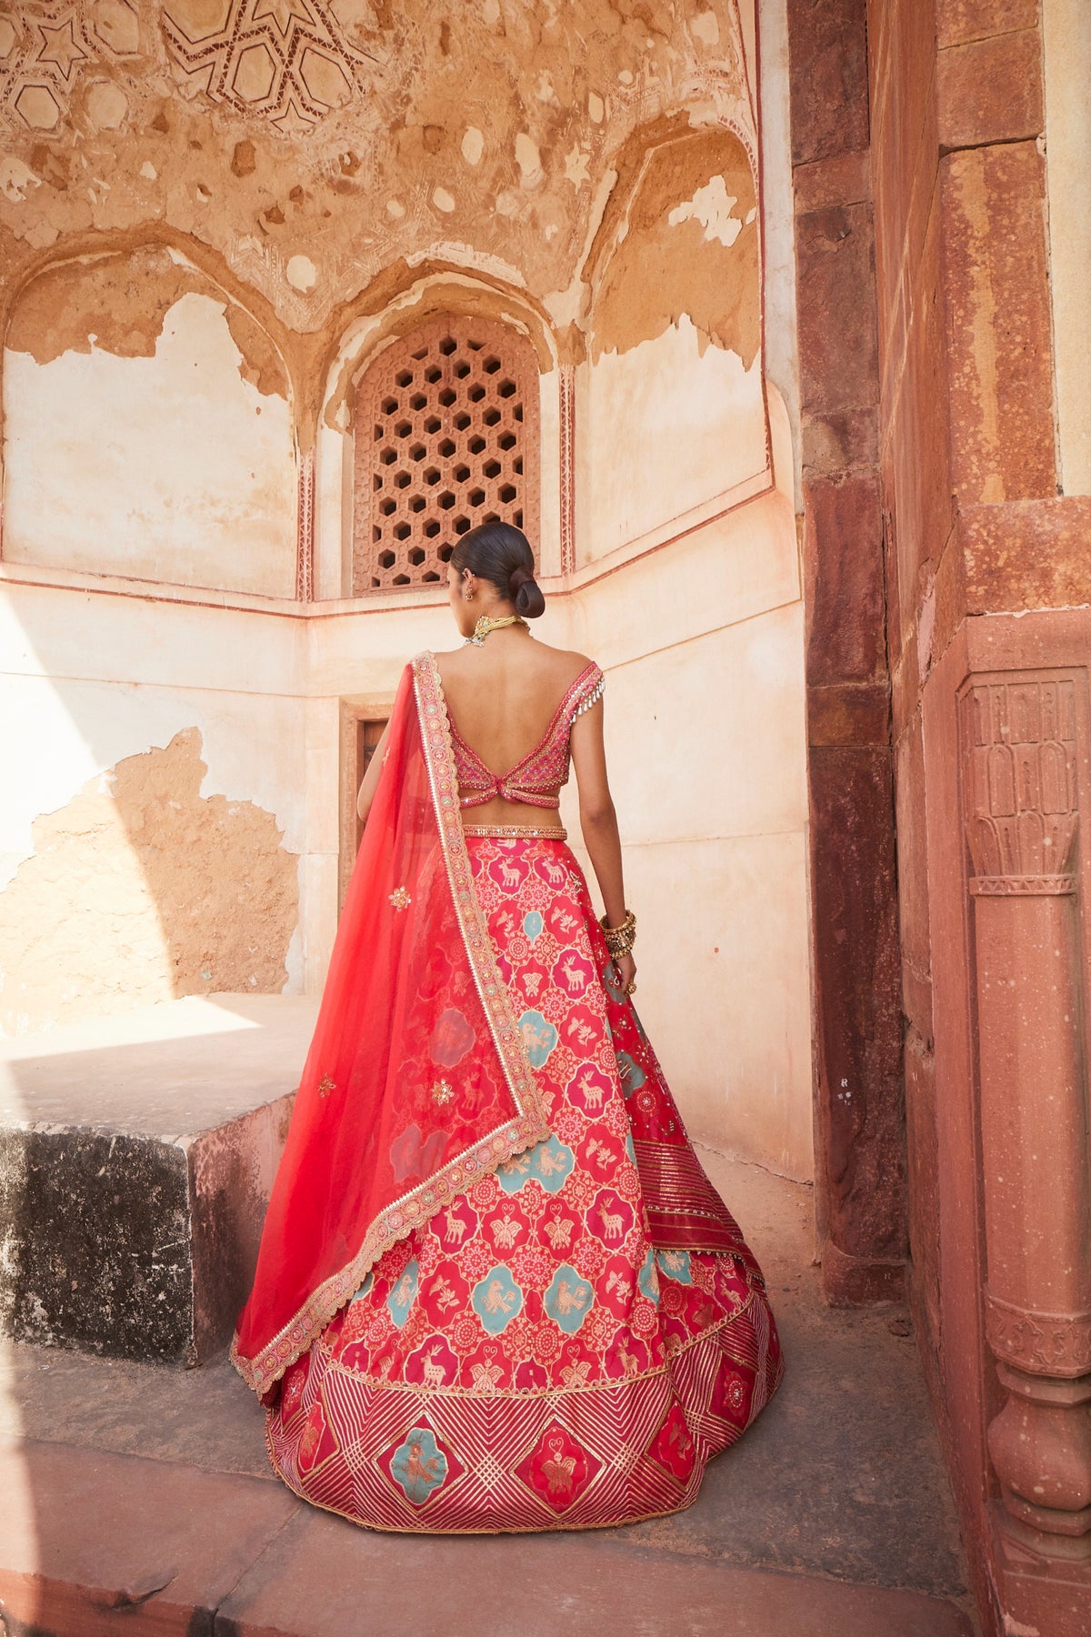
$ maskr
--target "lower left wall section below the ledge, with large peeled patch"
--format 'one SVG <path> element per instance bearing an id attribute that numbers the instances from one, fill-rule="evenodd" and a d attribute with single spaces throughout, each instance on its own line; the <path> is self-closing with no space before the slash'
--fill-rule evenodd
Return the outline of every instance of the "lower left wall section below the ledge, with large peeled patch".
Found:
<path id="1" fill-rule="evenodd" d="M 3 1033 L 303 987 L 303 630 L 165 612 L 52 586 L 0 599 Z"/>

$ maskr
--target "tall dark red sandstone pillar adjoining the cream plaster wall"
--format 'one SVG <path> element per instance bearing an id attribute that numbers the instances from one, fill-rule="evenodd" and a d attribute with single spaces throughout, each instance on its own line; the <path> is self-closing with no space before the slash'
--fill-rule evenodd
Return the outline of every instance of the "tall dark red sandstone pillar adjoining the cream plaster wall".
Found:
<path id="1" fill-rule="evenodd" d="M 908 1252 L 887 630 L 896 591 L 887 584 L 880 483 L 869 34 L 860 0 L 788 0 L 787 18 L 805 511 L 815 1208 L 826 1300 L 855 1306 L 905 1297 Z"/>

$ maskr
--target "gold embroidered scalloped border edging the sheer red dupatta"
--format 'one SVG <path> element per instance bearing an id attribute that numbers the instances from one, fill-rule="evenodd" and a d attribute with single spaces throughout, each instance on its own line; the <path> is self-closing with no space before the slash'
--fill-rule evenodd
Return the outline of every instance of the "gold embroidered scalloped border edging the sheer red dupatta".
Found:
<path id="1" fill-rule="evenodd" d="M 236 1331 L 231 1339 L 229 1357 L 242 1380 L 255 1393 L 267 1391 L 308 1351 L 314 1337 L 321 1334 L 339 1308 L 360 1288 L 370 1269 L 375 1267 L 391 1246 L 397 1244 L 399 1239 L 404 1239 L 415 1228 L 424 1226 L 437 1210 L 453 1200 L 456 1193 L 465 1193 L 479 1177 L 487 1175 L 515 1154 L 533 1148 L 535 1143 L 543 1143 L 550 1136 L 538 1082 L 515 1020 L 507 984 L 502 981 L 496 963 L 496 951 L 492 949 L 492 940 L 489 938 L 478 891 L 473 882 L 469 853 L 458 809 L 458 779 L 447 704 L 433 655 L 429 652 L 417 655 L 412 661 L 412 673 L 420 740 L 440 830 L 447 879 L 466 954 L 469 956 L 469 969 L 489 1023 L 492 1043 L 501 1058 L 504 1079 L 515 1102 L 517 1115 L 515 1120 L 505 1120 L 478 1143 L 473 1143 L 471 1148 L 463 1149 L 461 1154 L 450 1159 L 427 1182 L 417 1184 L 415 1188 L 411 1188 L 394 1200 L 393 1205 L 388 1205 L 368 1226 L 363 1244 L 352 1260 L 335 1274 L 330 1274 L 317 1290 L 312 1290 L 299 1311 L 254 1359 L 247 1359 L 239 1352 L 239 1333 Z"/>

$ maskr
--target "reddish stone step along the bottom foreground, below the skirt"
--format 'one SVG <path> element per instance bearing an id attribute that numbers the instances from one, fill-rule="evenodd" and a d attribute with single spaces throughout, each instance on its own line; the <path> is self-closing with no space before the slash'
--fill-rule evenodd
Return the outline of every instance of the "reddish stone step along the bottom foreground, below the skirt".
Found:
<path id="1" fill-rule="evenodd" d="M 10 1637 L 973 1637 L 944 1598 L 643 1549 L 626 1531 L 391 1536 L 283 1485 L 0 1450 Z"/>

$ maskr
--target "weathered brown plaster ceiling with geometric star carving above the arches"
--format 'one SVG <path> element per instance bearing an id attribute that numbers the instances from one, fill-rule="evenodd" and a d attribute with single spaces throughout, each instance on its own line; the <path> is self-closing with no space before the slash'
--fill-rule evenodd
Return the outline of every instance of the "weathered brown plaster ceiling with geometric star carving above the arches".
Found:
<path id="1" fill-rule="evenodd" d="M 0 280 L 155 228 L 299 331 L 425 257 L 579 321 L 612 162 L 671 118 L 754 154 L 736 0 L 25 0 L 0 16 Z"/>

